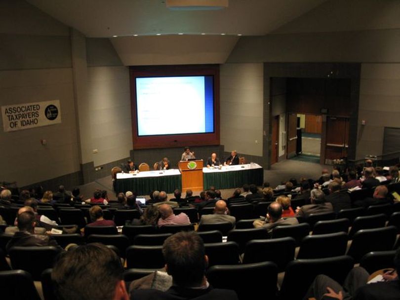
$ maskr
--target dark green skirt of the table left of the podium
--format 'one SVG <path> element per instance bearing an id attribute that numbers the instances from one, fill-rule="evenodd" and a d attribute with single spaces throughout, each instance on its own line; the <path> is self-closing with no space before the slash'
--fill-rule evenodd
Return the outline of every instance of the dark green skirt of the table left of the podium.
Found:
<path id="1" fill-rule="evenodd" d="M 114 185 L 116 193 L 130 190 L 137 195 L 148 195 L 153 190 L 173 193 L 176 188 L 182 189 L 181 175 L 117 179 Z"/>

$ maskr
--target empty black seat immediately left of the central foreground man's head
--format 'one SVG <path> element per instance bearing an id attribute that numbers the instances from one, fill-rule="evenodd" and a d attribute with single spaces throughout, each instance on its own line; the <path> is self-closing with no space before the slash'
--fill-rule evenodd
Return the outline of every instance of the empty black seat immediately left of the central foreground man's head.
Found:
<path id="1" fill-rule="evenodd" d="M 129 246 L 126 249 L 126 267 L 158 269 L 165 265 L 162 246 Z"/>

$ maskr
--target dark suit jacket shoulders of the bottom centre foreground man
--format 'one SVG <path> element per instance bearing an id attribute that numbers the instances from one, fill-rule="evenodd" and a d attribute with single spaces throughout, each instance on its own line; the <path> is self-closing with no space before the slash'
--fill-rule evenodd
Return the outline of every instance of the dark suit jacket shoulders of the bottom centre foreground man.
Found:
<path id="1" fill-rule="evenodd" d="M 155 289 L 133 290 L 130 294 L 131 300 L 238 300 L 235 291 L 213 289 L 209 286 L 207 289 L 190 289 L 170 287 L 166 292 Z"/>

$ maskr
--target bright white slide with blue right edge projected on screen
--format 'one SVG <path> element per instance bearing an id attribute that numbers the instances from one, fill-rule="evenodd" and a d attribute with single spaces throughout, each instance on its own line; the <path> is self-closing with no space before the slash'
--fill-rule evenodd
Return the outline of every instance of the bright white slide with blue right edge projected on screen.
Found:
<path id="1" fill-rule="evenodd" d="M 136 77 L 138 136 L 214 131 L 212 76 Z"/>

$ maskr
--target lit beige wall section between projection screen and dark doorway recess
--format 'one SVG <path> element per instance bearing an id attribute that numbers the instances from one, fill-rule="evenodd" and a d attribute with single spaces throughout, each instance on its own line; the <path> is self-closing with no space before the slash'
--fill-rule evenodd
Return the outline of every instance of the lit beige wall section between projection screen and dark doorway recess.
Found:
<path id="1" fill-rule="evenodd" d="M 221 145 L 262 156 L 263 64 L 221 65 L 220 93 Z"/>

